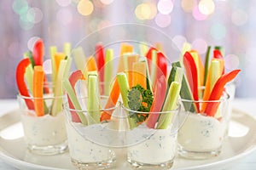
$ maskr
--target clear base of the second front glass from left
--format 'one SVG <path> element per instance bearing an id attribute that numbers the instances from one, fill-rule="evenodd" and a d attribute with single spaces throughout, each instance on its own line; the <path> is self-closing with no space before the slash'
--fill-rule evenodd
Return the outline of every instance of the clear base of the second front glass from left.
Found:
<path id="1" fill-rule="evenodd" d="M 109 167 L 113 167 L 113 163 L 116 161 L 115 157 L 108 161 L 97 161 L 97 162 L 82 162 L 77 161 L 71 158 L 73 166 L 79 170 L 87 170 L 87 169 L 106 169 Z"/>

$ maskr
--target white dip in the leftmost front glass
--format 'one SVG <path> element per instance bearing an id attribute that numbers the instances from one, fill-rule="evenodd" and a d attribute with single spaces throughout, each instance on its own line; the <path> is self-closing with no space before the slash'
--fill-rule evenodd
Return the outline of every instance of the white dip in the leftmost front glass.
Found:
<path id="1" fill-rule="evenodd" d="M 26 144 L 47 146 L 61 144 L 67 140 L 65 116 L 61 112 L 57 116 L 35 116 L 21 114 Z"/>

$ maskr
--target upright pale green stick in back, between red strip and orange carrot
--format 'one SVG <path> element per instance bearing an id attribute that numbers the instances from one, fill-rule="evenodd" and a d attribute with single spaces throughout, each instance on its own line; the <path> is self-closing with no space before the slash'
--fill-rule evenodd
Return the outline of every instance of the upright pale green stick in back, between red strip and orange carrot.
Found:
<path id="1" fill-rule="evenodd" d="M 104 94 L 109 95 L 110 93 L 110 83 L 113 78 L 113 49 L 108 48 L 106 50 L 106 61 L 104 68 Z"/>

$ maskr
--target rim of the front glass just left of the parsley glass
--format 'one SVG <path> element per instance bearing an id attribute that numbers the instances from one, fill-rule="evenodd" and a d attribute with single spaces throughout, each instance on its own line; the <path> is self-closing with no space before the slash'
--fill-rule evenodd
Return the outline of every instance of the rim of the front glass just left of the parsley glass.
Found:
<path id="1" fill-rule="evenodd" d="M 108 96 L 106 96 L 106 95 L 101 95 L 100 97 L 101 97 L 101 98 L 104 98 L 104 99 L 108 99 Z M 88 98 L 88 97 L 86 97 L 86 96 L 79 97 L 79 99 L 86 99 L 86 98 Z M 105 109 L 105 108 L 100 108 L 100 110 L 98 110 L 98 111 L 113 111 L 113 110 L 117 109 L 117 108 L 119 107 L 119 105 L 121 105 L 121 102 L 118 100 L 118 101 L 117 101 L 117 104 L 114 105 L 113 107 L 110 107 L 110 108 L 107 108 L 107 109 Z M 81 109 L 81 110 L 71 109 L 71 108 L 69 107 L 68 101 L 66 101 L 65 103 L 63 103 L 63 109 L 67 109 L 67 111 L 76 111 L 76 112 L 88 112 L 88 111 L 89 111 L 89 110 L 83 110 L 83 109 Z"/>

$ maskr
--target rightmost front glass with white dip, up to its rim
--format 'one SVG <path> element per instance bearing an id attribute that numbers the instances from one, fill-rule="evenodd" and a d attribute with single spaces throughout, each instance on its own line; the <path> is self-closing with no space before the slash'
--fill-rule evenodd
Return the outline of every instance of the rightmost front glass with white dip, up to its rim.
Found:
<path id="1" fill-rule="evenodd" d="M 218 156 L 229 122 L 229 94 L 216 100 L 181 99 L 181 116 L 187 116 L 179 129 L 178 153 L 190 159 Z"/>

